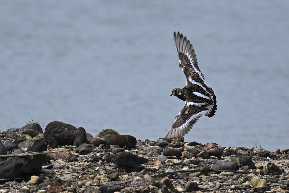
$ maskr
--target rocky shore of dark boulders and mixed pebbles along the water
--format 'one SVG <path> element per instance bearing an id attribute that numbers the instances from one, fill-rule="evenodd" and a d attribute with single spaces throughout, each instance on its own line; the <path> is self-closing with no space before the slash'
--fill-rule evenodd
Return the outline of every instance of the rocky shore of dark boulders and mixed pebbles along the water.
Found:
<path id="1" fill-rule="evenodd" d="M 0 193 L 289 193 L 289 149 L 136 140 L 54 121 L 0 134 Z M 47 150 L 48 149 L 48 150 Z"/>

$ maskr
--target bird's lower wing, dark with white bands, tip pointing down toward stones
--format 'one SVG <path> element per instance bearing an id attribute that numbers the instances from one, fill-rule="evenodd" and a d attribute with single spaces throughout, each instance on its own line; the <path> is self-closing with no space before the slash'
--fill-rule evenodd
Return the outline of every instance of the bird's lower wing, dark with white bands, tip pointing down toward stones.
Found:
<path id="1" fill-rule="evenodd" d="M 166 133 L 165 139 L 176 139 L 181 136 L 186 135 L 191 129 L 192 126 L 202 117 L 205 113 L 202 105 L 194 102 L 186 101 L 184 108 L 175 118 L 173 126 Z"/>

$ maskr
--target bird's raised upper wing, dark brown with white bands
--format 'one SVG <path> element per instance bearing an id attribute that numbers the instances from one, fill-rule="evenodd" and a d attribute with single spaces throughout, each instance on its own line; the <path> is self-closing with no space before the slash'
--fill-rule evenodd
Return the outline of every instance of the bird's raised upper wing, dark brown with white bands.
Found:
<path id="1" fill-rule="evenodd" d="M 179 57 L 179 67 L 185 73 L 187 84 L 195 82 L 205 84 L 205 78 L 198 66 L 195 50 L 187 37 L 178 32 L 174 32 L 175 48 Z M 206 85 L 207 86 L 207 85 Z"/>

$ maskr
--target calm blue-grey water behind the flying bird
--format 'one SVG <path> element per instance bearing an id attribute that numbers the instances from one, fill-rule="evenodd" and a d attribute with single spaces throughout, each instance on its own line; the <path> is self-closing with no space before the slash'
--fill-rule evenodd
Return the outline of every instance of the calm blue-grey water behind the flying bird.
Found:
<path id="1" fill-rule="evenodd" d="M 1 1 L 0 130 L 31 118 L 157 140 L 184 102 L 173 32 L 218 109 L 186 141 L 289 148 L 288 1 Z"/>

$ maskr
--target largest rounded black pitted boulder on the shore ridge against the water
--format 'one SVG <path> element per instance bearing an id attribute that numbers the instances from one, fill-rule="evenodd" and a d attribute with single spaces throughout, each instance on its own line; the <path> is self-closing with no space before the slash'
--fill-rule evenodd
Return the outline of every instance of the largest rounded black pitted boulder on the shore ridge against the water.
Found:
<path id="1" fill-rule="evenodd" d="M 44 139 L 48 143 L 49 137 L 54 137 L 58 145 L 73 145 L 76 130 L 77 128 L 70 124 L 53 121 L 45 128 Z"/>

